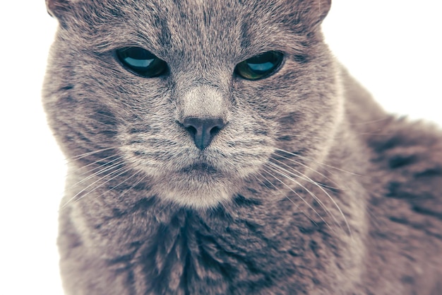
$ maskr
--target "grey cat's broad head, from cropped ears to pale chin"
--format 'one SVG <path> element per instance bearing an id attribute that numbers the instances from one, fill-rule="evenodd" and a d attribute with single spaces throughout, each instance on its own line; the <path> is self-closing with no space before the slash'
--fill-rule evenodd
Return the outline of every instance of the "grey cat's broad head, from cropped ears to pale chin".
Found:
<path id="1" fill-rule="evenodd" d="M 275 165 L 308 175 L 342 115 L 330 3 L 261 2 L 47 1 L 44 105 L 73 166 L 195 208 Z"/>

